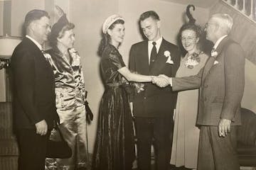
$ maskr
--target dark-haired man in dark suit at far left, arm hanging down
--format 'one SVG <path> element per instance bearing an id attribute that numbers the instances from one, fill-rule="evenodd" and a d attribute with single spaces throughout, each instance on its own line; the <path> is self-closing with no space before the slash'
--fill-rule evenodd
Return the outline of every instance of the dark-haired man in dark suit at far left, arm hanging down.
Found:
<path id="1" fill-rule="evenodd" d="M 11 57 L 19 170 L 44 169 L 46 144 L 53 120 L 58 119 L 53 70 L 41 51 L 50 33 L 49 18 L 42 10 L 26 14 L 26 38 Z"/>

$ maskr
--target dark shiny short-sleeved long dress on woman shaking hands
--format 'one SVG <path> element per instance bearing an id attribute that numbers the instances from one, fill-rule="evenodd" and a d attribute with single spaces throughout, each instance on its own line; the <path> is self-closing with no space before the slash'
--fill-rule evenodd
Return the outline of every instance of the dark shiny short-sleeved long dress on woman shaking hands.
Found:
<path id="1" fill-rule="evenodd" d="M 113 45 L 107 45 L 100 63 L 105 92 L 100 115 L 92 169 L 132 169 L 134 133 L 127 91 L 118 69 L 125 67 L 122 56 Z"/>

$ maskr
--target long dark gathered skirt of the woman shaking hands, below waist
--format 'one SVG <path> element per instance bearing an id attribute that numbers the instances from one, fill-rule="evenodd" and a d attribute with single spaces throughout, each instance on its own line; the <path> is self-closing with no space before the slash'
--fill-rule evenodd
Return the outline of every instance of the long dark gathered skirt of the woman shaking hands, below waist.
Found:
<path id="1" fill-rule="evenodd" d="M 107 87 L 100 103 L 92 169 L 130 170 L 134 157 L 134 132 L 127 92 L 122 86 Z"/>

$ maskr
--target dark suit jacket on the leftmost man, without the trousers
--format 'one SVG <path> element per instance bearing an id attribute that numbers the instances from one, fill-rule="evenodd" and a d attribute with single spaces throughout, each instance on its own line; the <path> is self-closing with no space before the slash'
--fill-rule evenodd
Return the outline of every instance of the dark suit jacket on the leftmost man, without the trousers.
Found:
<path id="1" fill-rule="evenodd" d="M 11 57 L 14 89 L 14 127 L 35 128 L 46 120 L 48 128 L 58 118 L 55 108 L 54 76 L 43 53 L 28 38 L 15 48 Z"/>

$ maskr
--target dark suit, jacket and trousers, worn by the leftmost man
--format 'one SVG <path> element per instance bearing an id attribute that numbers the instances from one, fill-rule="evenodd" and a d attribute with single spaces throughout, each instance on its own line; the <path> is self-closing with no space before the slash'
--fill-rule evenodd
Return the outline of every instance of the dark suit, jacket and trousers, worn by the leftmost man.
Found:
<path id="1" fill-rule="evenodd" d="M 55 108 L 53 70 L 36 44 L 24 38 L 11 57 L 14 80 L 14 127 L 19 145 L 22 169 L 43 169 L 47 135 L 36 134 L 35 124 L 46 120 L 48 130 L 58 118 Z M 29 158 L 28 158 L 29 157 Z M 41 162 L 35 160 L 40 157 Z M 29 162 L 27 162 L 29 161 Z M 30 165 L 23 167 L 22 165 Z"/>

